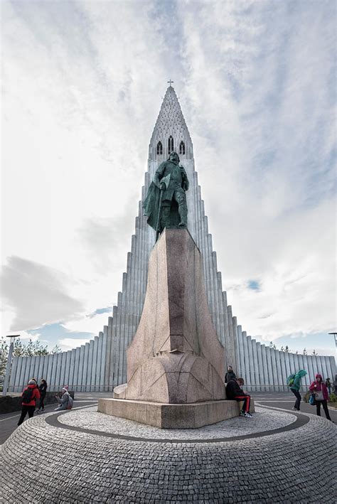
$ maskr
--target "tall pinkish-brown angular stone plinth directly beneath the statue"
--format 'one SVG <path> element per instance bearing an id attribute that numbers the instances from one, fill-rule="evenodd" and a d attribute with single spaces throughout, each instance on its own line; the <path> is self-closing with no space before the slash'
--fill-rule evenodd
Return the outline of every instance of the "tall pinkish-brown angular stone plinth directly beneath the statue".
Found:
<path id="1" fill-rule="evenodd" d="M 224 363 L 225 350 L 208 310 L 200 251 L 187 230 L 164 230 L 149 260 L 144 310 L 127 349 L 123 395 L 170 404 L 223 400 Z"/>

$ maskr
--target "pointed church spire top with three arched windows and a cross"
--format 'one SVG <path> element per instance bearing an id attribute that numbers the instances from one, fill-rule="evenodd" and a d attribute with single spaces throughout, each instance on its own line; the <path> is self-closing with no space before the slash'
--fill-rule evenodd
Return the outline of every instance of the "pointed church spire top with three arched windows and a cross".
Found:
<path id="1" fill-rule="evenodd" d="M 169 80 L 159 116 L 154 126 L 150 145 L 149 160 L 163 161 L 171 151 L 176 151 L 183 159 L 193 159 L 193 144 L 188 132 L 178 97 Z"/>

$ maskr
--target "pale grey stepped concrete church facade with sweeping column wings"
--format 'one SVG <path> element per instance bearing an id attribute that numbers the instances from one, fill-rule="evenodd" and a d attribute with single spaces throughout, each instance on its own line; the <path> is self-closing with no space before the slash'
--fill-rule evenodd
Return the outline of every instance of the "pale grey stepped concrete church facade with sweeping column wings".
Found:
<path id="1" fill-rule="evenodd" d="M 139 202 L 131 252 L 127 255 L 127 272 L 123 274 L 122 291 L 107 326 L 90 342 L 54 355 L 15 357 L 11 367 L 9 392 L 21 392 L 31 377 L 44 378 L 49 390 L 69 385 L 77 392 L 108 392 L 127 381 L 126 349 L 131 343 L 141 318 L 146 293 L 149 254 L 155 243 L 155 232 L 147 225 L 142 202 L 159 164 L 171 151 L 176 151 L 186 169 L 190 187 L 187 195 L 188 231 L 203 258 L 203 273 L 208 307 L 220 343 L 225 348 L 225 366 L 232 365 L 237 376 L 252 391 L 287 390 L 287 376 L 299 369 L 308 372 L 304 385 L 314 380 L 316 372 L 334 377 L 333 357 L 297 355 L 264 345 L 247 335 L 233 316 L 223 291 L 221 273 L 208 232 L 208 218 L 201 199 L 198 173 L 195 171 L 193 144 L 176 92 L 170 85 L 161 104 L 149 144 L 148 171 Z"/>

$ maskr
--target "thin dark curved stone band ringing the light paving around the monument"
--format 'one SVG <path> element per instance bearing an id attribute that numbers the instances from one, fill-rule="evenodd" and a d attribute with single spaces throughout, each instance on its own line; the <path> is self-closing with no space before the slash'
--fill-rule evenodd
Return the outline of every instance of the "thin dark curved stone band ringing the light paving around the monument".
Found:
<path id="1" fill-rule="evenodd" d="M 268 409 L 267 407 L 264 409 Z M 124 439 L 125 441 L 137 441 L 137 442 L 149 442 L 149 443 L 173 443 L 173 444 L 179 444 L 179 443 L 190 443 L 190 444 L 200 444 L 200 443 L 225 443 L 229 441 L 240 441 L 242 439 L 254 439 L 254 438 L 259 438 L 259 437 L 264 437 L 264 436 L 272 436 L 273 434 L 278 434 L 280 432 L 286 432 L 286 431 L 291 431 L 293 429 L 299 429 L 299 427 L 304 426 L 309 422 L 309 417 L 306 417 L 304 414 L 300 413 L 295 413 L 294 412 L 294 417 L 296 418 L 295 422 L 292 422 L 291 424 L 288 424 L 284 427 L 279 427 L 278 429 L 272 429 L 269 431 L 260 431 L 256 432 L 254 434 L 242 434 L 241 436 L 230 436 L 230 437 L 219 437 L 219 438 L 210 438 L 210 439 L 170 439 L 170 438 L 163 438 L 163 439 L 158 439 L 158 438 L 149 438 L 149 437 L 136 437 L 136 436 L 126 436 L 125 434 L 112 434 L 111 432 L 105 432 L 105 431 L 97 431 L 97 430 L 92 430 L 92 429 L 83 429 L 82 427 L 75 427 L 73 425 L 68 425 L 59 422 L 58 417 L 60 415 L 64 414 L 66 412 L 60 412 L 58 414 L 53 414 L 50 415 L 50 417 L 46 417 L 46 422 L 53 426 L 53 427 L 58 427 L 59 429 L 67 429 L 70 431 L 77 431 L 77 432 L 84 432 L 86 434 L 93 434 L 95 436 L 104 436 L 104 437 L 110 437 L 114 439 Z M 293 414 L 291 412 L 291 414 Z"/>

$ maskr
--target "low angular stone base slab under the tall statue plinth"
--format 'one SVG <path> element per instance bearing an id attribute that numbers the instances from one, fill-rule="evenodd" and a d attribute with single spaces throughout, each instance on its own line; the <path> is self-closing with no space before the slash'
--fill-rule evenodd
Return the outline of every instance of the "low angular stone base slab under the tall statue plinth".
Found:
<path id="1" fill-rule="evenodd" d="M 237 401 L 207 401 L 189 404 L 166 404 L 125 399 L 100 399 L 98 411 L 113 417 L 134 420 L 161 429 L 197 429 L 239 415 Z M 251 400 L 250 411 L 254 412 Z"/>

